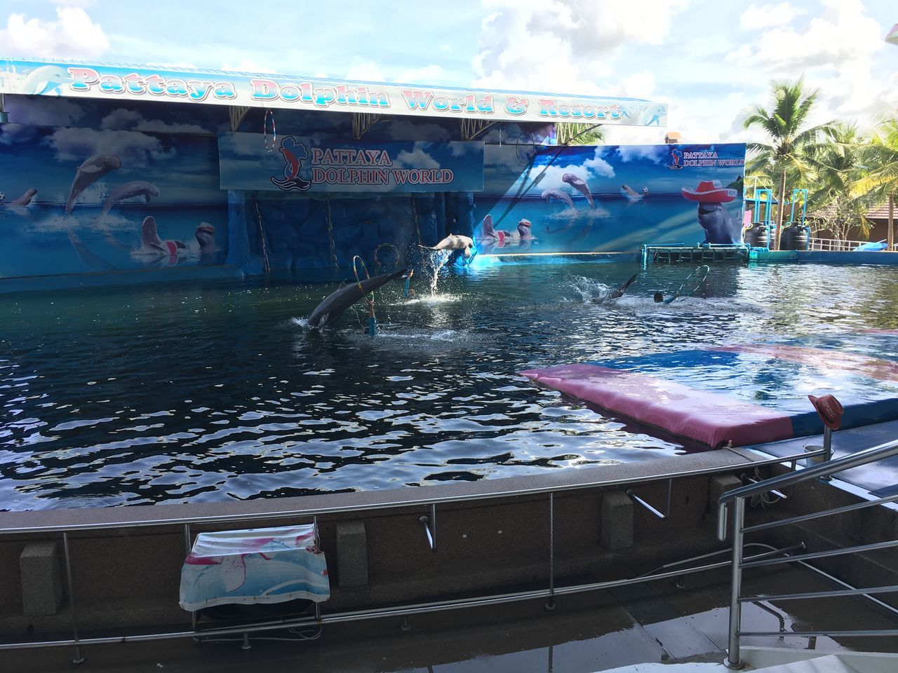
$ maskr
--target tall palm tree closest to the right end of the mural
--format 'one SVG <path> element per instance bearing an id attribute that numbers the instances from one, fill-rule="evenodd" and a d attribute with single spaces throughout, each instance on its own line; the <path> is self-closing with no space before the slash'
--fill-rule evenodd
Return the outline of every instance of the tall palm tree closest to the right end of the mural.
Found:
<path id="1" fill-rule="evenodd" d="M 770 177 L 771 181 L 779 178 L 778 235 L 786 207 L 787 172 L 801 181 L 809 179 L 812 169 L 807 162 L 806 151 L 816 144 L 818 135 L 832 128 L 832 123 L 805 128 L 819 95 L 819 89 L 806 90 L 804 77 L 795 82 L 774 80 L 770 83 L 770 110 L 755 105 L 744 121 L 745 128 L 762 127 L 770 139 L 769 144 L 748 144 L 748 150 L 754 156 L 746 170 L 754 175 Z M 776 240 L 772 242 L 774 249 L 779 248 Z"/>

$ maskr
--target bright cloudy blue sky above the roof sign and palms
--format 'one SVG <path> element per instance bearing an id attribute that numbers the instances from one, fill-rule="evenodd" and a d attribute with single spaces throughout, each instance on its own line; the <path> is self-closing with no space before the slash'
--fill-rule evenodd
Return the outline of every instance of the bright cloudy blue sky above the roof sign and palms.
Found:
<path id="1" fill-rule="evenodd" d="M 819 86 L 820 121 L 894 110 L 895 22 L 894 0 L 0 0 L 0 56 L 637 96 L 685 142 L 741 142 L 773 77 Z"/>

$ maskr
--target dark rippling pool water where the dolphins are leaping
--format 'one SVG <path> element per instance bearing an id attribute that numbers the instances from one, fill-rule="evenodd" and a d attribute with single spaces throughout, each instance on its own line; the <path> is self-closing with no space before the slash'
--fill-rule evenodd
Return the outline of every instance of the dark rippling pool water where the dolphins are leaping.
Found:
<path id="1" fill-rule="evenodd" d="M 684 448 L 518 371 L 898 328 L 898 269 L 497 264 L 321 332 L 292 278 L 0 296 L 0 509 L 221 502 L 538 474 Z M 639 272 L 619 301 L 594 303 Z"/>

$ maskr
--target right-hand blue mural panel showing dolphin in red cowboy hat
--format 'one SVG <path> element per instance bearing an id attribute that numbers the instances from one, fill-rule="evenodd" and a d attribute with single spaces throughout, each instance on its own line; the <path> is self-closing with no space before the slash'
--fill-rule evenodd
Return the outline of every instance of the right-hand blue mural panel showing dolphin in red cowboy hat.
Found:
<path id="1" fill-rule="evenodd" d="M 474 240 L 494 254 L 741 243 L 744 160 L 744 144 L 492 145 Z"/>

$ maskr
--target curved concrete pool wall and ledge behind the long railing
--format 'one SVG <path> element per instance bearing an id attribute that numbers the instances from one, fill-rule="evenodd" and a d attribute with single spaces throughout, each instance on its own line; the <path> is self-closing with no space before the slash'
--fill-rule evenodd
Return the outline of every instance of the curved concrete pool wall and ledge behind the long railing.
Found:
<path id="1" fill-rule="evenodd" d="M 187 548 L 185 533 L 195 536 L 210 529 L 260 526 L 248 519 L 207 522 L 188 531 L 179 525 L 179 519 L 233 517 L 243 512 L 271 516 L 262 524 L 268 527 L 311 517 L 314 512 L 332 512 L 319 519 L 321 549 L 327 555 L 331 579 L 331 598 L 324 607 L 325 616 L 337 615 L 339 619 L 341 610 L 365 611 L 459 596 L 476 601 L 481 595 L 530 591 L 533 587 L 544 590 L 550 577 L 557 578 L 557 586 L 562 588 L 627 578 L 642 564 L 664 564 L 719 551 L 722 543 L 714 532 L 712 503 L 717 503 L 722 492 L 743 483 L 739 475 L 751 474 L 755 467 L 762 467 L 764 474 L 787 470 L 781 467 L 784 460 L 747 450 L 717 450 L 645 463 L 568 469 L 566 474 L 549 476 L 224 505 L 170 504 L 164 507 L 164 513 L 151 511 L 158 515 L 153 521 L 146 516 L 145 506 L 9 512 L 0 529 L 0 563 L 9 571 L 0 578 L 0 643 L 21 642 L 18 634 L 26 631 L 33 632 L 38 641 L 43 640 L 41 634 L 55 637 L 52 634 L 70 630 L 75 618 L 67 600 L 57 604 L 53 613 L 34 616 L 23 611 L 18 595 L 46 591 L 43 587 L 47 584 L 33 581 L 34 573 L 30 572 L 32 586 L 25 586 L 26 566 L 17 561 L 29 545 L 46 546 L 56 541 L 59 559 L 63 558 L 63 542 L 66 553 L 70 550 L 71 586 L 83 635 L 119 627 L 141 632 L 154 628 L 154 633 L 161 633 L 160 627 L 163 632 L 172 628 L 183 631 L 189 613 L 178 607 L 178 585 Z M 665 519 L 658 519 L 657 514 L 637 503 L 663 508 L 671 487 L 674 497 L 668 500 Z M 630 489 L 638 498 L 628 497 Z M 396 500 L 397 494 L 405 496 L 401 502 Z M 807 485 L 801 497 L 789 499 L 788 509 L 797 505 L 797 511 L 803 511 L 800 503 L 821 496 L 854 502 L 854 496 L 830 485 Z M 465 497 L 480 502 L 465 501 Z M 420 522 L 422 515 L 433 511 L 429 506 L 432 503 L 443 503 L 436 508 L 439 553 L 428 548 Z M 293 509 L 286 510 L 287 505 Z M 365 511 L 365 507 L 371 509 Z M 774 511 L 772 515 L 784 513 Z M 769 516 L 761 510 L 753 514 L 753 520 L 767 520 Z M 864 537 L 869 532 L 878 538 L 884 527 L 891 530 L 895 525 L 891 516 L 892 512 L 887 512 L 885 519 L 875 514 L 871 520 L 874 525 L 864 527 Z M 92 525 L 110 529 L 91 529 Z M 151 525 L 155 528 L 136 529 Z M 35 531 L 41 527 L 45 532 Z M 352 537 L 347 536 L 348 529 L 350 533 L 361 532 L 360 542 L 350 539 L 347 543 Z M 823 535 L 858 534 L 860 531 L 852 532 L 856 529 L 856 521 L 849 517 Z M 67 541 L 60 533 L 67 535 Z M 777 543 L 788 546 L 795 539 Z M 550 546 L 555 550 L 553 564 Z M 348 582 L 355 572 L 352 566 L 359 564 L 354 555 L 361 555 L 364 564 L 361 585 Z M 21 577 L 16 572 L 20 567 Z M 850 574 L 852 579 L 858 573 L 866 577 L 870 572 L 871 577 L 878 577 L 885 572 L 883 567 L 875 561 L 856 562 Z M 5 646 L 31 647 L 34 636 L 27 642 Z M 136 637 L 141 636 L 138 633 Z"/>

